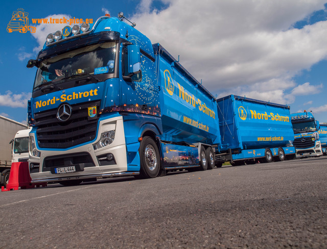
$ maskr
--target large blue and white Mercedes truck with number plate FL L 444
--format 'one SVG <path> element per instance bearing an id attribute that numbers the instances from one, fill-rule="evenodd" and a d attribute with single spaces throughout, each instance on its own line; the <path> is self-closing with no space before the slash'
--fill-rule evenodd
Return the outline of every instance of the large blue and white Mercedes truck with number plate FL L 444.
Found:
<path id="1" fill-rule="evenodd" d="M 215 97 L 124 18 L 66 26 L 28 62 L 32 183 L 215 166 Z"/>

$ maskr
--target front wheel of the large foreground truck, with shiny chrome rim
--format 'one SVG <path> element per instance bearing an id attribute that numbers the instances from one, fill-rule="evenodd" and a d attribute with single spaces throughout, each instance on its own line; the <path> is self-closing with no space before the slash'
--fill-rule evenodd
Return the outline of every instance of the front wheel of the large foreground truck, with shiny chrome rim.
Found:
<path id="1" fill-rule="evenodd" d="M 144 137 L 139 146 L 141 162 L 140 174 L 145 178 L 155 178 L 160 169 L 158 146 L 151 137 Z"/>

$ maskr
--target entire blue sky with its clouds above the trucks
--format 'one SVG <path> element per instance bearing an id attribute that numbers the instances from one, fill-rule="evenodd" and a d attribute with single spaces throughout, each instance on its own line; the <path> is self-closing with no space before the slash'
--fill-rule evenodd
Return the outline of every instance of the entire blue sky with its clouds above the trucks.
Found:
<path id="1" fill-rule="evenodd" d="M 63 24 L 34 25 L 36 33 L 7 32 L 12 12 L 32 18 L 92 18 L 109 12 L 136 22 L 136 29 L 159 42 L 214 95 L 237 94 L 312 110 L 327 122 L 327 1 L 311 0 L 121 0 L 6 1 L 2 4 L 0 40 L 0 115 L 24 122 L 46 35 Z M 271 3 L 272 2 L 272 3 Z M 310 3 L 305 3 L 310 2 Z"/>

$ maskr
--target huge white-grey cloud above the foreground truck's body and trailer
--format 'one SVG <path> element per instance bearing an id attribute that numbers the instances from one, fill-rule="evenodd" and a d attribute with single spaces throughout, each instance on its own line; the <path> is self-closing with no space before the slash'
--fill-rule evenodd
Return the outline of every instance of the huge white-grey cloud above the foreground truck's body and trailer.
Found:
<path id="1" fill-rule="evenodd" d="M 298 72 L 327 59 L 327 21 L 294 29 L 296 21 L 324 9 L 325 0 L 170 0 L 151 11 L 152 1 L 130 19 L 159 42 L 214 95 L 249 94 L 292 103 Z M 141 8 L 139 9 L 142 10 Z M 319 86 L 310 86 L 310 92 Z M 296 94 L 296 95 L 295 95 Z"/>

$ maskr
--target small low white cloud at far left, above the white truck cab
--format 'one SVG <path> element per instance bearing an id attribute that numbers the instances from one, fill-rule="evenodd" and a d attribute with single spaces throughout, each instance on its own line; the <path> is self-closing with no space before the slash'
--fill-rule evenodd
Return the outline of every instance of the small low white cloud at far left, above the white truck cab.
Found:
<path id="1" fill-rule="evenodd" d="M 13 94 L 11 91 L 6 91 L 5 94 L 0 93 L 0 106 L 27 108 L 27 102 L 31 96 L 30 92 Z"/>

